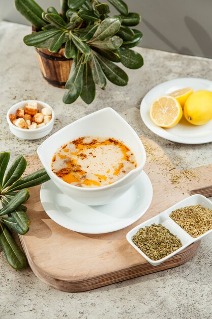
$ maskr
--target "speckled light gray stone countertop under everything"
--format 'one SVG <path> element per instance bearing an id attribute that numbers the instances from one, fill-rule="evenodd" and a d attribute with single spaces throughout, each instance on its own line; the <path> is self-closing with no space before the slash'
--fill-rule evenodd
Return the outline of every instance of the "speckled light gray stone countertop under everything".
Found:
<path id="1" fill-rule="evenodd" d="M 20 140 L 9 131 L 6 121 L 11 105 L 24 99 L 39 99 L 55 110 L 51 134 L 74 120 L 112 107 L 139 135 L 158 143 L 179 169 L 211 163 L 212 143 L 182 145 L 164 140 L 151 132 L 140 118 L 143 96 L 154 86 L 177 77 L 212 78 L 212 60 L 169 52 L 136 48 L 144 58 L 138 70 L 127 69 L 129 84 L 107 84 L 97 89 L 96 99 L 86 105 L 78 99 L 64 104 L 63 89 L 44 81 L 36 52 L 24 45 L 22 38 L 31 32 L 28 26 L 0 23 L 0 149 L 17 154 L 34 154 L 45 138 Z M 64 293 L 41 282 L 27 268 L 13 270 L 0 249 L 0 318 L 211 318 L 211 236 L 202 240 L 198 253 L 187 263 L 85 293 Z"/>

